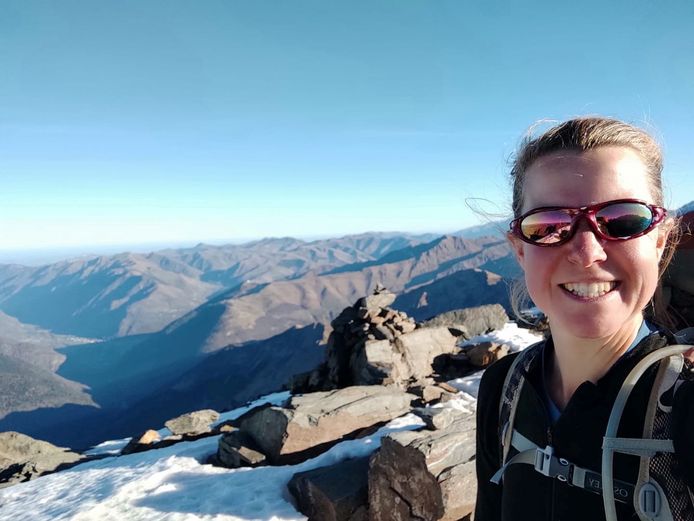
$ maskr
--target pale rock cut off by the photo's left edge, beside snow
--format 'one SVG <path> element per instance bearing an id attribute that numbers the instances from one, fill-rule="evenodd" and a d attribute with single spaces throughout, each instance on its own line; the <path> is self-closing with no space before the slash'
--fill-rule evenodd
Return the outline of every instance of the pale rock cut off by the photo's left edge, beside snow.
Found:
<path id="1" fill-rule="evenodd" d="M 80 454 L 18 432 L 0 432 L 0 488 L 78 463 Z"/>

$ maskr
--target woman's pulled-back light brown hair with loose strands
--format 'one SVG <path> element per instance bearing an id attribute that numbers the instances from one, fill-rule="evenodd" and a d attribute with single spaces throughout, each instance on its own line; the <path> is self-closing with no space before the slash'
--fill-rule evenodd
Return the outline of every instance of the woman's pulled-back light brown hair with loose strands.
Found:
<path id="1" fill-rule="evenodd" d="M 631 148 L 638 154 L 646 166 L 648 181 L 653 196 L 652 203 L 664 205 L 663 197 L 663 155 L 660 145 L 643 129 L 611 118 L 604 117 L 579 117 L 556 125 L 543 134 L 533 137 L 532 129 L 521 141 L 515 159 L 512 162 L 511 179 L 513 182 L 513 216 L 519 217 L 523 208 L 523 186 L 528 168 L 539 158 L 560 151 L 586 152 L 600 147 L 619 146 Z M 679 239 L 677 223 L 668 219 L 663 225 L 671 227 L 663 256 L 659 265 L 659 276 L 662 276 L 667 268 Z M 661 226 L 663 226 L 661 225 Z M 527 304 L 527 291 L 519 287 L 513 287 L 511 291 L 511 303 L 513 310 L 518 315 L 521 305 Z M 665 326 L 669 326 L 672 320 L 666 312 L 666 305 L 662 301 L 660 286 L 651 302 L 649 314 L 652 319 Z"/>

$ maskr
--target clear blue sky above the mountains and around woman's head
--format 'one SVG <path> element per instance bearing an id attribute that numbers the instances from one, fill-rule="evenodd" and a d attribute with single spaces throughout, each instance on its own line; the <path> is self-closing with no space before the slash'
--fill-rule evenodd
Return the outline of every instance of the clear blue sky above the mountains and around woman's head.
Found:
<path id="1" fill-rule="evenodd" d="M 694 199 L 694 2 L 3 0 L 0 250 L 453 231 L 534 121 Z"/>

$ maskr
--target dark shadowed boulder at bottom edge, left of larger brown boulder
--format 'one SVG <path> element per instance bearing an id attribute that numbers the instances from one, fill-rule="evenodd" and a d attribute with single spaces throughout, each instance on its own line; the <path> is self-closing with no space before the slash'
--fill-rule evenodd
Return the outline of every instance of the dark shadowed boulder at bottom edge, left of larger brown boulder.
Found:
<path id="1" fill-rule="evenodd" d="M 309 521 L 367 521 L 369 457 L 294 474 L 287 488 Z"/>

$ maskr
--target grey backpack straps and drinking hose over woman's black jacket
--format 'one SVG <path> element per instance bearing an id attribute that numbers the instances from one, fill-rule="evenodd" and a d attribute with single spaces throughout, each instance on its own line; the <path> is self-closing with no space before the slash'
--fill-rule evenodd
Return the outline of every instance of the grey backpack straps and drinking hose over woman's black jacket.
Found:
<path id="1" fill-rule="evenodd" d="M 544 449 L 514 429 L 518 399 L 525 375 L 541 355 L 542 343 L 535 344 L 515 358 L 504 381 L 499 404 L 499 440 L 501 468 L 492 477 L 499 483 L 509 465 L 528 464 L 544 476 L 568 485 L 601 494 L 607 521 L 616 521 L 615 501 L 633 503 L 641 521 L 694 521 L 694 495 L 684 481 L 672 472 L 672 399 L 689 372 L 682 353 L 694 345 L 694 328 L 675 334 L 677 345 L 656 349 L 645 356 L 629 373 L 615 399 L 602 445 L 601 473 L 584 469 L 558 458 L 554 449 Z M 627 399 L 636 382 L 653 364 L 660 364 L 651 390 L 644 422 L 643 438 L 616 437 Z M 511 448 L 518 451 L 509 459 Z M 612 474 L 615 452 L 641 458 L 636 484 L 616 480 Z"/>

